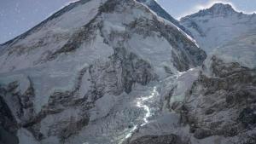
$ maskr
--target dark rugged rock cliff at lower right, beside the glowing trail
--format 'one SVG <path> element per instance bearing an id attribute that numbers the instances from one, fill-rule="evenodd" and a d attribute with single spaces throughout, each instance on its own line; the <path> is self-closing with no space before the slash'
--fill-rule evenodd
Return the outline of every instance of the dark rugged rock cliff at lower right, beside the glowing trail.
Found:
<path id="1" fill-rule="evenodd" d="M 228 143 L 254 143 L 255 69 L 212 57 L 212 74 L 204 73 L 183 105 L 183 123 L 198 139 L 224 135 Z"/>

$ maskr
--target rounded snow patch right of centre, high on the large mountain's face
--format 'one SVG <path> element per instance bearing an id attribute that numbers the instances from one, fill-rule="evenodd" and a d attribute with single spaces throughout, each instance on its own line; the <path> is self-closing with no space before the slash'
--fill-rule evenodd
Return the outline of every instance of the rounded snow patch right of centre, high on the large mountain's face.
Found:
<path id="1" fill-rule="evenodd" d="M 137 42 L 141 43 L 137 43 Z M 147 60 L 161 78 L 166 77 L 164 67 L 172 66 L 172 46 L 163 37 L 143 37 L 135 34 L 127 43 L 131 52 Z"/>

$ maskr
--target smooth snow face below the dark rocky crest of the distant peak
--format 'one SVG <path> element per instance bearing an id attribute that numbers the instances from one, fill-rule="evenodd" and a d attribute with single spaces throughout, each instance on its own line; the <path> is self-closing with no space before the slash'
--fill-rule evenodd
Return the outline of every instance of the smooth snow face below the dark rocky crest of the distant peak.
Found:
<path id="1" fill-rule="evenodd" d="M 190 27 L 191 21 L 195 22 L 201 32 L 197 28 L 194 28 L 194 26 Z M 240 37 L 252 30 L 255 31 L 255 22 L 255 15 L 238 13 L 228 16 L 205 15 L 192 18 L 188 16 L 188 18 L 184 18 L 181 21 L 183 26 L 192 32 L 197 43 L 207 53 L 211 53 L 214 49 L 223 49 L 222 46 L 234 38 Z"/>

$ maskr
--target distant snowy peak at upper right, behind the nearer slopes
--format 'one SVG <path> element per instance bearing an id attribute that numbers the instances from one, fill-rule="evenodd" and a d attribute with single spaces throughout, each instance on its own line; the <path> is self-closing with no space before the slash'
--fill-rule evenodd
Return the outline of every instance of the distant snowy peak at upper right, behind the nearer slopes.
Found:
<path id="1" fill-rule="evenodd" d="M 230 4 L 216 3 L 209 9 L 180 20 L 199 45 L 211 53 L 237 37 L 256 31 L 256 14 L 236 12 Z"/>

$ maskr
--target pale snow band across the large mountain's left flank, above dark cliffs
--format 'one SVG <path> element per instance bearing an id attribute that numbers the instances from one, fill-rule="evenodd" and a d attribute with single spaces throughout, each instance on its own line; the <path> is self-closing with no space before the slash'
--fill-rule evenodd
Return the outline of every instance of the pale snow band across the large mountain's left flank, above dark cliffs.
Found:
<path id="1" fill-rule="evenodd" d="M 6 69 L 2 69 L 1 73 L 1 83 L 9 84 L 15 79 L 20 79 L 16 77 L 29 76 L 32 80 L 33 87 L 35 89 L 35 110 L 40 112 L 41 107 L 46 105 L 49 101 L 49 95 L 53 94 L 55 91 L 65 91 L 73 90 L 75 84 L 77 84 L 77 77 L 79 72 L 90 64 L 96 61 L 108 61 L 109 56 L 113 55 L 113 49 L 109 47 L 106 43 L 103 43 L 102 37 L 98 34 L 96 40 L 93 43 L 84 43 L 81 48 L 70 55 L 62 55 L 58 60 L 52 60 L 48 63 L 41 64 L 39 66 L 31 65 L 30 61 L 33 60 L 23 60 L 20 61 L 23 65 L 20 66 L 20 70 L 15 72 L 4 72 Z M 30 57 L 32 59 L 33 57 Z M 14 59 L 17 60 L 17 59 Z M 9 65 L 15 65 L 15 61 L 10 61 Z M 24 69 L 27 67 L 26 69 Z M 31 67 L 31 68 L 29 68 Z M 17 68 L 19 69 L 19 67 Z M 17 76 L 18 75 L 18 76 Z M 20 76 L 21 75 L 21 76 Z M 87 81 L 88 73 L 84 74 L 83 78 L 83 92 L 89 89 L 90 83 Z M 86 82 L 87 81 L 87 82 Z M 20 86 L 24 87 L 26 84 L 20 82 Z M 23 88 L 22 88 L 23 89 Z M 23 89 L 24 90 L 24 89 Z M 26 90 L 26 89 L 25 89 Z"/>

